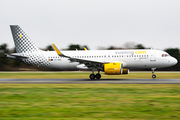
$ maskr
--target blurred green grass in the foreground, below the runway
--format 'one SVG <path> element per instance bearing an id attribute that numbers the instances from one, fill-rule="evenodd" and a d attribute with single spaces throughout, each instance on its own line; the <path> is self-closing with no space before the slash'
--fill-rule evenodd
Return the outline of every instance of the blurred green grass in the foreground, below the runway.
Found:
<path id="1" fill-rule="evenodd" d="M 179 84 L 0 84 L 1 120 L 177 120 Z"/>

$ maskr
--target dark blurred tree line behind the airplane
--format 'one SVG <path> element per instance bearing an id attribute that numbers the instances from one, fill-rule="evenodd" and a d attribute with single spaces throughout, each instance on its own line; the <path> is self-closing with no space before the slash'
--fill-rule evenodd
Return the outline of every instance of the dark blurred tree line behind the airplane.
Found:
<path id="1" fill-rule="evenodd" d="M 87 46 L 81 46 L 78 44 L 71 44 L 64 50 L 84 50 L 84 47 L 89 50 Z M 101 47 L 102 48 L 102 47 Z M 100 48 L 100 49 L 101 49 Z M 114 47 L 110 46 L 108 48 L 104 48 L 107 50 L 113 50 L 113 49 L 123 49 L 121 47 Z M 127 48 L 126 48 L 127 49 Z M 130 49 L 146 49 L 142 44 L 131 46 Z M 46 46 L 44 51 L 53 51 L 52 45 Z M 169 53 L 171 56 L 175 57 L 178 61 L 180 61 L 180 49 L 179 48 L 167 48 L 164 51 Z M 7 58 L 7 54 L 16 53 L 16 49 L 9 49 L 7 44 L 1 44 L 0 45 L 0 71 L 24 71 L 24 70 L 31 70 L 31 71 L 49 71 L 52 69 L 44 68 L 44 67 L 38 67 L 35 65 L 29 65 L 25 64 L 23 62 L 18 62 L 12 59 Z M 163 68 L 158 70 L 169 70 L 169 71 L 179 71 L 180 70 L 180 63 L 178 62 L 175 66 L 169 67 L 169 68 Z"/>

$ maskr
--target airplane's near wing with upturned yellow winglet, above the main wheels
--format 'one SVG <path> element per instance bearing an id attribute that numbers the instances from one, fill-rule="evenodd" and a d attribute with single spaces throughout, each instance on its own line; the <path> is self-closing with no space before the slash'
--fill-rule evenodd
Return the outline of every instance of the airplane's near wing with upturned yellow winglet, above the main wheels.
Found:
<path id="1" fill-rule="evenodd" d="M 58 48 L 55 46 L 55 44 L 52 44 L 54 50 L 56 53 L 61 56 L 61 57 L 66 57 L 69 58 L 71 62 L 79 62 L 79 64 L 85 64 L 89 69 L 96 68 L 96 69 L 101 69 L 103 64 L 109 63 L 105 61 L 98 61 L 98 60 L 92 60 L 92 59 L 81 59 L 81 58 L 73 58 L 70 56 L 64 55 L 61 51 L 58 50 Z"/>

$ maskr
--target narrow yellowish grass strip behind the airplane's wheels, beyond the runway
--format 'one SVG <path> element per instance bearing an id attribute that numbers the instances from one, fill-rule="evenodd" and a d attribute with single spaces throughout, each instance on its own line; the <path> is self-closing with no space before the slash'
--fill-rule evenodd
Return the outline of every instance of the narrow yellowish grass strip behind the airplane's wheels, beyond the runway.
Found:
<path id="1" fill-rule="evenodd" d="M 38 73 L 38 72 L 28 72 L 28 73 L 0 73 L 0 78 L 80 78 L 89 79 L 90 72 L 54 72 L 54 73 Z M 180 79 L 180 73 L 178 72 L 157 72 L 155 73 L 157 79 Z M 130 72 L 128 75 L 105 75 L 101 74 L 102 79 L 151 79 L 151 72 Z"/>

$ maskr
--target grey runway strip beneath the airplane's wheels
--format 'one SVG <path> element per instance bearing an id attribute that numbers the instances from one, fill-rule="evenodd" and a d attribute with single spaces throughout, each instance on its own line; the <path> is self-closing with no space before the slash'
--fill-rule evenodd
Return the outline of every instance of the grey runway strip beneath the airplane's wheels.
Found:
<path id="1" fill-rule="evenodd" d="M 180 79 L 0 79 L 0 83 L 21 84 L 180 84 Z"/>

